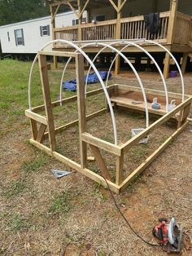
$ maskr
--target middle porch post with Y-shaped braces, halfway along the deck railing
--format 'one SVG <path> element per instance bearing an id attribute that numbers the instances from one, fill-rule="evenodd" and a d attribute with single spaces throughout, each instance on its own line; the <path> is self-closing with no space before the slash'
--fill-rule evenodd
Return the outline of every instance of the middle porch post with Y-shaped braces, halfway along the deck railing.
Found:
<path id="1" fill-rule="evenodd" d="M 116 39 L 120 39 L 120 18 L 121 18 L 121 0 L 118 0 L 117 3 L 117 16 L 116 16 Z M 120 55 L 116 58 L 116 63 L 115 63 L 115 75 L 118 75 L 120 73 Z"/>

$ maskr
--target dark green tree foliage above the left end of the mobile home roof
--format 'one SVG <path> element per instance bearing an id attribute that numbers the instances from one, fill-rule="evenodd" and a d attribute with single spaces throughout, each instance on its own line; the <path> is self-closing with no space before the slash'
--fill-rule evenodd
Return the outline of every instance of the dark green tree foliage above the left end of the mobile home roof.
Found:
<path id="1" fill-rule="evenodd" d="M 0 0 L 0 25 L 50 15 L 45 0 Z"/>

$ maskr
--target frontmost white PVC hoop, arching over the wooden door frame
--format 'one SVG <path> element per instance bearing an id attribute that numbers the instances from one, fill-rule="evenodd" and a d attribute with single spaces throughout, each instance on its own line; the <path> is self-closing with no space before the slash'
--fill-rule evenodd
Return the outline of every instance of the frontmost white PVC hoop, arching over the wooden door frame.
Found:
<path id="1" fill-rule="evenodd" d="M 89 59 L 89 56 L 85 54 L 84 51 L 81 50 L 80 47 L 76 46 L 74 43 L 72 42 L 68 42 L 67 40 L 63 40 L 63 39 L 56 39 L 56 40 L 52 40 L 50 42 L 47 42 L 45 46 L 42 46 L 41 47 L 41 50 L 40 51 L 43 51 L 46 46 L 49 46 L 50 44 L 54 43 L 54 42 L 61 42 L 61 43 L 66 43 L 70 46 L 72 46 L 73 48 L 75 48 L 76 50 L 78 50 L 81 55 L 83 55 L 85 57 L 85 59 L 89 62 L 89 64 L 92 66 L 92 68 L 94 69 L 94 72 L 97 74 L 98 76 L 98 80 L 99 82 L 101 83 L 102 87 L 103 87 L 103 90 L 104 90 L 104 93 L 105 93 L 105 96 L 106 96 L 106 99 L 107 99 L 107 104 L 109 106 L 109 109 L 110 109 L 110 113 L 111 113 L 111 120 L 112 120 L 112 126 L 113 126 L 113 133 L 114 133 L 114 140 L 115 140 L 115 144 L 117 145 L 118 143 L 118 140 L 117 140 L 117 131 L 116 131 L 116 118 L 115 118 L 115 115 L 114 115 L 114 111 L 113 111 L 113 108 L 112 108 L 112 105 L 111 105 L 111 100 L 110 100 L 110 97 L 108 95 L 108 92 L 107 92 L 107 89 L 106 89 L 106 86 L 104 85 L 104 82 L 103 82 L 103 79 L 102 77 L 100 76 L 100 74 L 98 73 L 98 69 L 94 66 L 94 64 L 92 63 L 92 61 Z M 32 73 L 33 73 L 33 67 L 34 67 L 34 64 L 36 63 L 37 61 L 37 58 L 38 58 L 38 55 L 39 53 L 37 53 L 37 55 L 35 56 L 35 59 L 33 60 L 33 64 L 32 64 L 32 67 L 30 69 L 30 73 L 29 73 L 29 78 L 28 78 L 28 105 L 29 105 L 29 109 L 31 110 L 32 109 L 32 106 L 31 106 L 31 77 L 32 77 Z"/>

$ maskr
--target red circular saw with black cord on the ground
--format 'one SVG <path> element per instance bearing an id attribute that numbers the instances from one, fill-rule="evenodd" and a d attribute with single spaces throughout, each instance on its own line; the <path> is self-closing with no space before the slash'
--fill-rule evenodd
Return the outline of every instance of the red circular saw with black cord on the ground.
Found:
<path id="1" fill-rule="evenodd" d="M 170 223 L 167 218 L 159 218 L 159 225 L 152 231 L 159 239 L 159 245 L 168 252 L 179 253 L 181 250 L 182 229 L 178 226 L 176 218 L 172 217 Z"/>

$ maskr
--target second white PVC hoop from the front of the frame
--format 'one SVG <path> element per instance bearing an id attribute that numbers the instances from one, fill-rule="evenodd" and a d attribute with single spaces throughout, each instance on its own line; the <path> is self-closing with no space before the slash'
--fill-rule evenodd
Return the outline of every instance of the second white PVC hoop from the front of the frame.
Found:
<path id="1" fill-rule="evenodd" d="M 115 42 L 113 42 L 113 43 L 115 43 Z M 90 45 L 96 45 L 96 46 L 100 45 L 100 46 L 104 46 L 103 48 L 110 48 L 111 51 L 115 51 L 117 54 L 119 54 L 129 64 L 129 66 L 132 68 L 133 73 L 137 77 L 137 81 L 138 81 L 138 83 L 139 83 L 139 85 L 142 89 L 142 95 L 143 95 L 143 99 L 144 99 L 144 103 L 145 103 L 145 109 L 146 109 L 146 127 L 148 127 L 149 126 L 149 112 L 148 112 L 148 106 L 147 106 L 147 100 L 146 100 L 146 93 L 145 93 L 145 90 L 144 90 L 144 86 L 142 85 L 142 80 L 139 77 L 139 75 L 137 73 L 137 70 L 133 67 L 133 64 L 131 64 L 131 62 L 128 60 L 128 58 L 126 58 L 124 56 L 124 54 L 122 52 L 117 50 L 115 47 L 113 47 L 111 45 L 108 45 L 108 44 L 105 44 L 103 42 L 89 42 L 89 43 L 85 44 L 84 46 L 81 46 L 81 48 L 83 48 L 85 46 L 90 46 Z M 69 63 L 69 61 L 70 61 L 70 59 L 68 60 L 67 64 Z M 66 64 L 66 66 L 67 66 L 67 64 Z M 65 70 L 67 68 L 66 66 L 65 66 Z M 61 86 L 60 86 L 60 88 L 61 88 Z M 62 93 L 61 90 L 60 90 L 60 93 Z M 62 99 L 61 99 L 61 95 L 60 95 L 60 102 L 61 101 L 62 101 Z"/>

